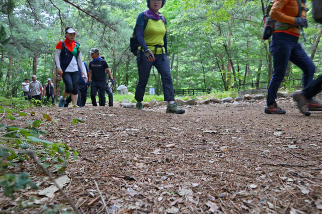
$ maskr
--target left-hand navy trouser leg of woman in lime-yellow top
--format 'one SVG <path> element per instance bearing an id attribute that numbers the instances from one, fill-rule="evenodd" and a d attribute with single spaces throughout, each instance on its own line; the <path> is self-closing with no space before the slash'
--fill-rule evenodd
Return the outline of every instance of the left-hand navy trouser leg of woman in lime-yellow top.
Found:
<path id="1" fill-rule="evenodd" d="M 136 56 L 136 63 L 137 63 L 137 68 L 139 73 L 139 80 L 136 85 L 135 97 L 134 97 L 137 102 L 143 101 L 145 87 L 149 79 L 150 71 L 154 62 L 155 61 L 153 62 L 147 61 L 143 52 L 138 50 L 138 53 Z"/>

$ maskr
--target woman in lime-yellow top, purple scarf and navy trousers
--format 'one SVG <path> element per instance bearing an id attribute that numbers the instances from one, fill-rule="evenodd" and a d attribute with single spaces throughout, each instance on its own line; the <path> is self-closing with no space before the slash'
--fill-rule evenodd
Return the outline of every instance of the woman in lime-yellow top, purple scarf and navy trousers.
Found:
<path id="1" fill-rule="evenodd" d="M 136 37 L 139 43 L 136 62 L 139 80 L 136 86 L 135 108 L 143 110 L 145 87 L 154 66 L 162 77 L 164 99 L 168 101 L 167 113 L 183 114 L 184 109 L 175 103 L 175 94 L 171 79 L 167 50 L 167 21 L 158 11 L 166 4 L 166 0 L 147 0 L 147 11 L 140 13 L 136 21 Z"/>

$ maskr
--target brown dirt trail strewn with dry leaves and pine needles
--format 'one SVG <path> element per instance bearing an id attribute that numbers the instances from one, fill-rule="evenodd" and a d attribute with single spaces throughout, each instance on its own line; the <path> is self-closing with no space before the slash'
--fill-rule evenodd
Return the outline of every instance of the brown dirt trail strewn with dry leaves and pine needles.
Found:
<path id="1" fill-rule="evenodd" d="M 54 127 L 39 127 L 49 132 L 43 138 L 61 134 L 57 139 L 78 148 L 79 159 L 67 163 L 64 190 L 83 213 L 105 213 L 94 180 L 109 213 L 319 213 L 322 114 L 304 117 L 286 101 L 286 115 L 266 115 L 264 105 L 199 105 L 183 115 L 166 114 L 165 107 L 32 108 L 26 112 L 36 115 L 26 119 L 43 113 L 57 119 Z M 85 123 L 62 133 L 73 118 Z M 19 170 L 42 181 L 40 190 L 49 186 L 36 164 Z M 18 196 L 44 198 L 32 189 Z M 0 198 L 5 209 L 18 203 Z M 59 192 L 42 200 L 65 202 Z"/>

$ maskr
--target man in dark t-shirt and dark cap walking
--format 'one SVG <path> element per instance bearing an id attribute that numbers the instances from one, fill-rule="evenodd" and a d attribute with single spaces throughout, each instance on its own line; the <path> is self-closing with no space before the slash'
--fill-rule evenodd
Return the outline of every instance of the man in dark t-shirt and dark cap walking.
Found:
<path id="1" fill-rule="evenodd" d="M 110 68 L 107 65 L 106 61 L 103 60 L 99 56 L 99 50 L 96 48 L 92 48 L 90 51 L 93 60 L 90 62 L 90 72 L 89 72 L 89 81 L 87 86 L 91 86 L 91 99 L 93 106 L 97 106 L 96 103 L 96 93 L 97 90 L 100 90 L 99 97 L 101 98 L 100 106 L 105 106 L 105 83 L 106 83 L 106 74 L 105 70 L 108 74 L 111 74 Z M 110 78 L 113 77 L 110 75 Z M 92 83 L 91 83 L 92 81 Z"/>

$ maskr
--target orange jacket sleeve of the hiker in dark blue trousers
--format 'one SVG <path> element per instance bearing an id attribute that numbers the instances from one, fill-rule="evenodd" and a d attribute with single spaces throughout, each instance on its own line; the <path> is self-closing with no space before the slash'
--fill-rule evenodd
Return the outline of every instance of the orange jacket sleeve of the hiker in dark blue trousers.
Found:
<path id="1" fill-rule="evenodd" d="M 276 0 L 270 11 L 270 17 L 278 22 L 283 22 L 283 23 L 288 23 L 293 25 L 295 23 L 295 17 L 290 17 L 283 13 L 284 7 L 289 2 L 290 0 Z"/>

